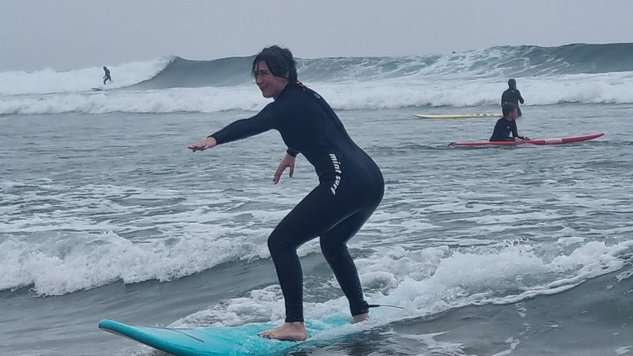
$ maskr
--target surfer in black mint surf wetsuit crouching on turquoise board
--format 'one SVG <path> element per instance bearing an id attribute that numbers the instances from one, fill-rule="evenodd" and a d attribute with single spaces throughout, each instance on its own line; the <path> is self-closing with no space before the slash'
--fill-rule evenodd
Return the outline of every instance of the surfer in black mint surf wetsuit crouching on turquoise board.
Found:
<path id="1" fill-rule="evenodd" d="M 317 237 L 325 260 L 348 298 L 353 321 L 364 321 L 369 317 L 369 305 L 346 243 L 382 200 L 384 181 L 380 168 L 352 141 L 325 99 L 299 82 L 296 61 L 289 49 L 264 48 L 253 61 L 251 75 L 264 98 L 274 101 L 254 117 L 237 120 L 189 149 L 202 151 L 275 129 L 288 149 L 273 175 L 274 184 L 279 183 L 286 168 L 292 177 L 299 153 L 315 167 L 319 180 L 318 186 L 268 237 L 268 249 L 284 295 L 285 322 L 258 335 L 306 340 L 303 272 L 297 248 Z"/>

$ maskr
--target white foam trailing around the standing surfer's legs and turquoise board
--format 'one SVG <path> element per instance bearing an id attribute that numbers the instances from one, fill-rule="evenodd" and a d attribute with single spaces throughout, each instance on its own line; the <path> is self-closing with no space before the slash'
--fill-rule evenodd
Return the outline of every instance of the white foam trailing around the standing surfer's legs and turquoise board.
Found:
<path id="1" fill-rule="evenodd" d="M 482 248 L 451 253 L 448 248 L 406 251 L 383 248 L 356 260 L 370 303 L 398 305 L 372 309 L 379 324 L 444 312 L 465 305 L 517 303 L 537 295 L 551 295 L 622 268 L 633 241 L 606 246 L 591 242 L 551 262 L 538 257 L 529 245 L 499 250 Z M 562 278 L 560 278 L 562 276 Z M 560 279 L 556 279 L 560 278 Z M 337 284 L 323 288 L 337 288 Z M 221 326 L 245 321 L 284 319 L 279 286 L 257 289 L 172 323 L 172 327 Z M 304 303 L 306 318 L 349 313 L 344 297 Z M 373 323 L 372 323 L 373 326 Z"/>

